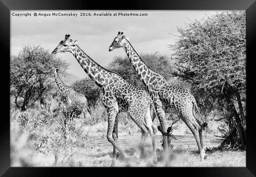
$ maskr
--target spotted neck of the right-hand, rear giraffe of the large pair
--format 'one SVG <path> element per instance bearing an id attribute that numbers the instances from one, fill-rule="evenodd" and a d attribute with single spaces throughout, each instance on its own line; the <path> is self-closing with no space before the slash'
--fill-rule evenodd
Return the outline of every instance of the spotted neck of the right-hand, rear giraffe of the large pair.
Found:
<path id="1" fill-rule="evenodd" d="M 152 70 L 142 59 L 139 57 L 138 53 L 134 50 L 130 42 L 125 39 L 123 48 L 132 63 L 135 71 L 138 76 L 141 78 L 141 81 L 145 86 L 154 87 L 154 81 L 161 81 L 163 83 L 167 83 L 166 79 L 161 76 L 158 72 Z M 163 84 L 162 83 L 162 84 Z"/>

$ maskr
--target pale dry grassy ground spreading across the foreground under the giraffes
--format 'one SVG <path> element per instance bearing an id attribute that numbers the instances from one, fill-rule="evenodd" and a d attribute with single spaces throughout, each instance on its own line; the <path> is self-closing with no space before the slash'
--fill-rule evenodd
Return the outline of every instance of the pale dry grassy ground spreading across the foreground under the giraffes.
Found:
<path id="1" fill-rule="evenodd" d="M 58 160 L 55 163 L 56 157 L 52 145 L 56 142 L 56 137 L 61 136 L 58 122 L 53 120 L 48 124 L 41 124 L 39 121 L 40 124 L 35 124 L 36 120 L 38 122 L 38 119 L 43 120 L 43 118 L 37 117 L 39 112 L 32 110 L 26 113 L 26 121 L 22 123 L 20 114 L 19 111 L 11 111 L 11 166 L 110 166 L 113 146 L 106 139 L 106 121 L 88 125 L 88 120 L 74 119 L 74 131 L 70 139 L 66 142 L 59 141 Z M 154 124 L 157 122 L 155 121 Z M 174 149 L 169 151 L 168 155 L 163 153 L 161 134 L 157 133 L 157 164 L 152 163 L 150 136 L 145 141 L 141 158 L 135 160 L 133 154 L 141 133 L 137 125 L 124 114 L 119 121 L 118 144 L 131 156 L 131 159 L 124 160 L 117 152 L 116 166 L 245 167 L 245 151 L 206 152 L 207 159 L 200 161 L 195 138 L 186 128 L 182 121 L 174 126 L 173 134 L 177 135 L 178 140 L 172 142 Z M 214 132 L 214 129 L 211 129 Z M 221 142 L 222 140 L 216 139 L 212 134 L 204 137 L 206 147 L 217 147 Z"/>

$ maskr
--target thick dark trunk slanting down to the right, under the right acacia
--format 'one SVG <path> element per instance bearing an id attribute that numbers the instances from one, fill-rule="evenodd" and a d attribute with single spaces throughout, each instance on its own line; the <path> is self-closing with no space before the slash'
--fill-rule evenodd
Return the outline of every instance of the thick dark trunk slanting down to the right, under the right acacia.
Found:
<path id="1" fill-rule="evenodd" d="M 237 130 L 238 130 L 238 133 L 239 133 L 239 138 L 240 138 L 240 141 L 241 141 L 241 145 L 245 149 L 245 144 L 246 144 L 246 142 L 245 142 L 245 133 L 244 133 L 244 130 L 243 130 L 243 126 L 241 124 L 241 120 L 239 118 L 239 114 L 236 111 L 236 107 L 235 107 L 234 103 L 227 96 L 226 96 L 226 101 L 228 103 L 230 111 L 232 112 L 233 116 L 236 119 L 236 125 L 237 125 Z"/>

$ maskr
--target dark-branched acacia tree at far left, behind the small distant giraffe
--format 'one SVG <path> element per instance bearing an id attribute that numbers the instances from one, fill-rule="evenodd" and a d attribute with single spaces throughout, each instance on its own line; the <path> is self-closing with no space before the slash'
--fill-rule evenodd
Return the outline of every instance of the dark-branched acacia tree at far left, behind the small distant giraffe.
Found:
<path id="1" fill-rule="evenodd" d="M 22 111 L 37 102 L 45 105 L 45 97 L 54 82 L 51 67 L 66 70 L 68 66 L 41 46 L 24 46 L 17 56 L 11 57 L 10 65 L 10 94 Z"/>

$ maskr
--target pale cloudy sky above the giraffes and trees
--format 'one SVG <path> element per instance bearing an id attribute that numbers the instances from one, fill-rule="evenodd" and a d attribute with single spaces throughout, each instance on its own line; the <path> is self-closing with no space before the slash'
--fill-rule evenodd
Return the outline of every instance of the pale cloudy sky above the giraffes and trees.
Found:
<path id="1" fill-rule="evenodd" d="M 80 16 L 80 13 L 111 13 L 112 16 Z M 12 14 L 31 13 L 17 17 Z M 34 13 L 51 16 L 34 16 Z M 52 13 L 77 13 L 74 16 L 52 16 Z M 113 16 L 114 13 L 147 13 L 147 16 Z M 114 56 L 126 56 L 122 48 L 108 52 L 108 48 L 123 31 L 138 53 L 160 52 L 170 55 L 167 47 L 178 34 L 177 26 L 186 27 L 189 20 L 200 20 L 216 11 L 11 11 L 11 54 L 17 55 L 24 45 L 41 45 L 50 52 L 56 48 L 65 34 L 78 40 L 78 46 L 99 65 L 107 66 Z M 87 77 L 71 53 L 57 53 L 70 63 L 67 72 L 80 78 Z"/>

